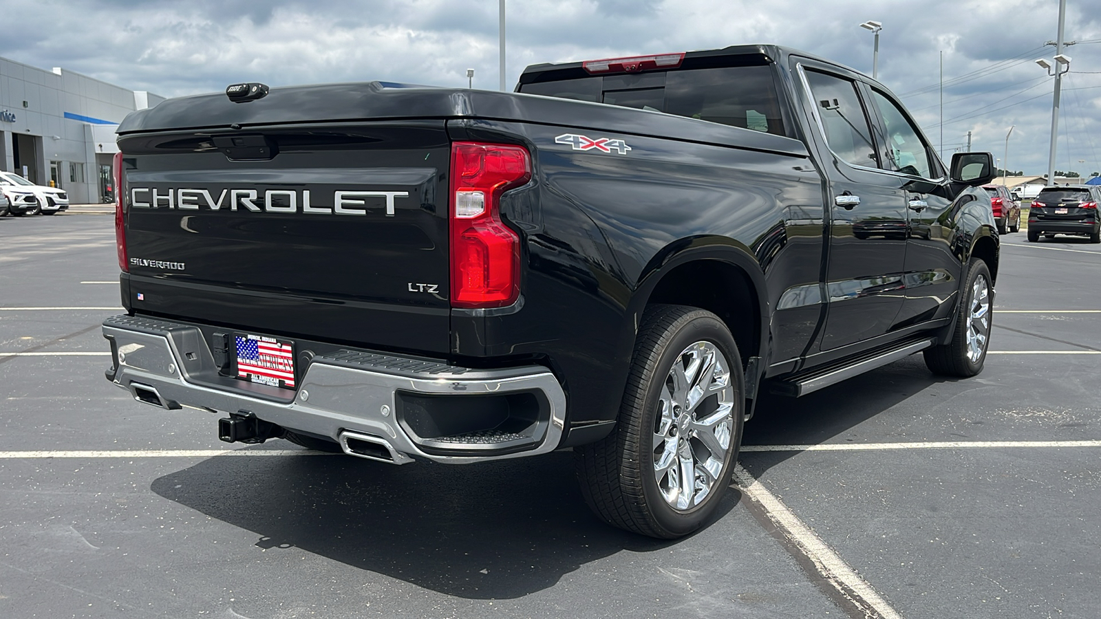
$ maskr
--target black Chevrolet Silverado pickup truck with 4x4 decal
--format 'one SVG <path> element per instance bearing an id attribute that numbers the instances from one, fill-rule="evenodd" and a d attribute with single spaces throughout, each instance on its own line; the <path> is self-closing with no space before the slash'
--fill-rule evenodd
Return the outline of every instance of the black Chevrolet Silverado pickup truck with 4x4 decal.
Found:
<path id="1" fill-rule="evenodd" d="M 989 153 L 770 45 L 170 99 L 119 128 L 108 380 L 406 464 L 573 447 L 586 500 L 701 526 L 763 390 L 982 369 Z"/>

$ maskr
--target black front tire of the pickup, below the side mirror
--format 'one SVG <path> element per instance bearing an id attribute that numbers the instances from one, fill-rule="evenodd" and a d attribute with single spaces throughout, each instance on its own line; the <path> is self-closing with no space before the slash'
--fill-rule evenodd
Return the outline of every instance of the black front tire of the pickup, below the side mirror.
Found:
<path id="1" fill-rule="evenodd" d="M 984 300 L 975 298 L 975 282 L 979 279 L 984 280 L 986 294 Z M 963 296 L 956 307 L 956 330 L 952 333 L 952 340 L 923 350 L 925 366 L 929 368 L 930 372 L 955 378 L 970 378 L 982 371 L 982 365 L 986 360 L 986 350 L 990 348 L 990 332 L 994 317 L 993 291 L 994 286 L 990 281 L 990 269 L 986 263 L 978 258 L 971 259 L 963 284 Z M 985 321 L 969 319 L 972 311 L 983 302 L 986 304 L 983 314 Z M 969 355 L 971 351 L 969 332 L 977 333 L 982 338 L 979 346 L 981 352 L 974 359 Z"/>

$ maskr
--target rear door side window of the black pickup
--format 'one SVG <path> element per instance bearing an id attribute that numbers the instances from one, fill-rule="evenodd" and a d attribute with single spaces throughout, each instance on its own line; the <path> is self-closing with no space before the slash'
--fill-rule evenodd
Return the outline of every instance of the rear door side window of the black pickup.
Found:
<path id="1" fill-rule="evenodd" d="M 879 160 L 872 143 L 872 130 L 860 105 L 857 85 L 849 79 L 814 70 L 807 70 L 806 76 L 813 102 L 822 119 L 829 150 L 849 163 L 876 167 Z"/>

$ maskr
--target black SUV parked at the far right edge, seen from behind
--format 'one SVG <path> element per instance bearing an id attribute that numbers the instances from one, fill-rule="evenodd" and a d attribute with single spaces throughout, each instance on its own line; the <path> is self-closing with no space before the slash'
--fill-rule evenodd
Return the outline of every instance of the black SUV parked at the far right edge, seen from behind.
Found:
<path id="1" fill-rule="evenodd" d="M 1049 239 L 1055 235 L 1075 235 L 1101 243 L 1098 203 L 1101 203 L 1098 185 L 1044 187 L 1028 213 L 1028 240 L 1036 242 L 1040 235 Z"/>

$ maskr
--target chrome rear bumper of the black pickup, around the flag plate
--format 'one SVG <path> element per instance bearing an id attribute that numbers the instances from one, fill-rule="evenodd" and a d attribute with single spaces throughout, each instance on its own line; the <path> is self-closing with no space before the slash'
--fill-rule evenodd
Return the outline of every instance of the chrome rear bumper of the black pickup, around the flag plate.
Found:
<path id="1" fill-rule="evenodd" d="M 253 413 L 291 431 L 328 437 L 360 457 L 380 459 L 350 448 L 349 436 L 353 446 L 357 441 L 385 446 L 394 464 L 412 461 L 408 456 L 464 464 L 545 454 L 557 448 L 565 430 L 565 392 L 539 366 L 480 370 L 344 349 L 310 359 L 292 391 L 219 376 L 203 333 L 193 325 L 116 316 L 103 322 L 103 337 L 115 357 L 108 380 L 140 402 Z M 521 430 L 514 423 L 508 432 L 448 435 L 437 430 L 429 436 L 425 427 L 443 427 L 447 424 L 435 422 L 447 420 L 417 421 L 424 419 L 425 402 L 443 403 L 446 416 L 450 402 L 455 414 L 464 414 L 471 403 L 476 410 L 482 402 L 508 410 L 517 399 L 525 406 Z"/>

